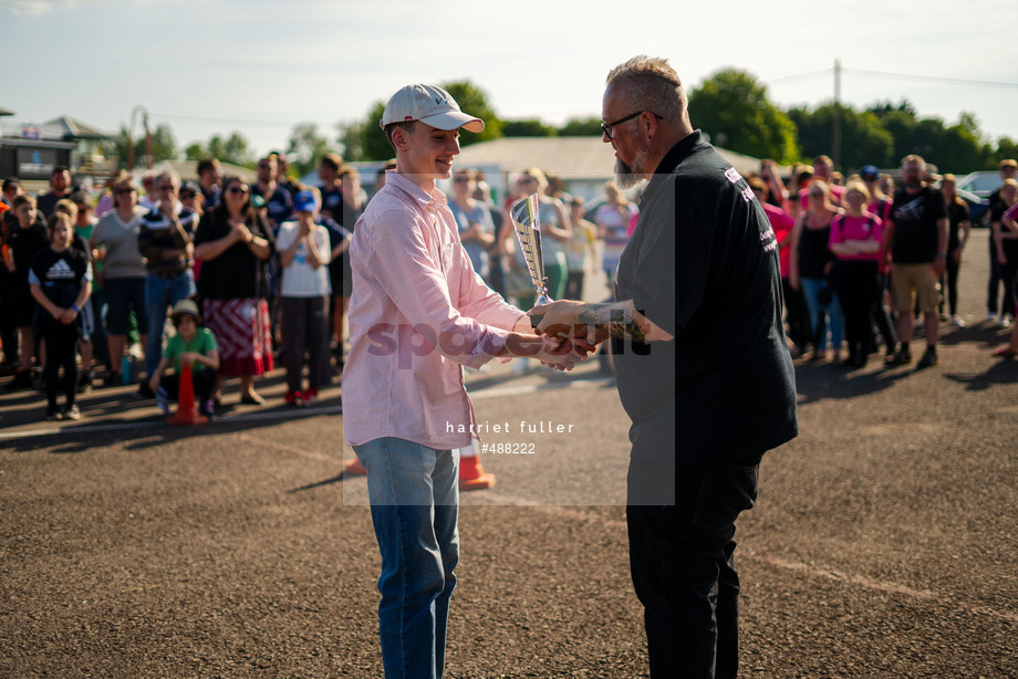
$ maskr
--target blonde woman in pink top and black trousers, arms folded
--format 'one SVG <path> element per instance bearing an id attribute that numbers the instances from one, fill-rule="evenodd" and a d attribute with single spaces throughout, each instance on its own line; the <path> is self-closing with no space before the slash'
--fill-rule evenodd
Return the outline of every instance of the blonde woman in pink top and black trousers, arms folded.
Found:
<path id="1" fill-rule="evenodd" d="M 862 181 L 845 187 L 845 213 L 831 222 L 834 253 L 831 281 L 844 313 L 849 357 L 842 365 L 861 368 L 873 348 L 873 309 L 880 300 L 880 252 L 883 221 L 866 210 L 870 191 Z"/>

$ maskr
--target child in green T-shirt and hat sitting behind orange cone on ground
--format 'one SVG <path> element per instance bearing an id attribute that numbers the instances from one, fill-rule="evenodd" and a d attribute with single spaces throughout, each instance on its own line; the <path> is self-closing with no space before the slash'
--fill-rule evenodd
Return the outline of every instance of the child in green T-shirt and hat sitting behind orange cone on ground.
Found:
<path id="1" fill-rule="evenodd" d="M 163 358 L 148 380 L 148 386 L 156 395 L 156 403 L 164 414 L 169 415 L 169 401 L 177 400 L 180 390 L 180 368 L 185 364 L 191 367 L 191 385 L 200 404 L 201 415 L 211 418 L 215 415 L 212 391 L 219 370 L 219 348 L 216 335 L 201 325 L 201 314 L 194 300 L 180 300 L 174 305 L 169 315 L 177 334 L 166 341 Z M 165 375 L 169 366 L 174 372 Z"/>

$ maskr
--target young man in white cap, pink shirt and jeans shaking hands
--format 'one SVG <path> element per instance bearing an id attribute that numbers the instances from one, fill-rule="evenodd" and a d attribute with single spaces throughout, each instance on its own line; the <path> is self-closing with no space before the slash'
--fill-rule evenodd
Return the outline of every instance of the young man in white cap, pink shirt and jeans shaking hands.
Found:
<path id="1" fill-rule="evenodd" d="M 485 124 L 449 94 L 407 85 L 382 127 L 396 169 L 357 220 L 350 247 L 350 357 L 344 438 L 367 470 L 382 553 L 385 676 L 442 677 L 459 558 L 456 449 L 476 427 L 463 366 L 534 356 L 569 369 L 568 343 L 539 338 L 528 316 L 474 271 L 437 179 L 451 176 L 459 130 Z"/>

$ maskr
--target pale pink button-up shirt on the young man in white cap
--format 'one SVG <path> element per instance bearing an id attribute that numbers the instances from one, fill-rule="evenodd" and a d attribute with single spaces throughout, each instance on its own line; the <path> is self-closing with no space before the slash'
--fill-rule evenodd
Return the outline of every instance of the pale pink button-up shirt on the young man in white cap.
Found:
<path id="1" fill-rule="evenodd" d="M 461 366 L 490 361 L 523 312 L 475 273 L 442 191 L 398 173 L 357 220 L 350 262 L 346 442 L 469 445 L 476 420 Z"/>

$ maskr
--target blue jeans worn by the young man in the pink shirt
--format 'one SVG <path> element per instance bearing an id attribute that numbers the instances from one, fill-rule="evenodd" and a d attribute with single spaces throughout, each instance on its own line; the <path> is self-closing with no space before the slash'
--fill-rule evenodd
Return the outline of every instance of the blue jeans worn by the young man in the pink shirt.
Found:
<path id="1" fill-rule="evenodd" d="M 459 455 L 397 438 L 354 446 L 382 553 L 378 631 L 386 679 L 439 679 L 459 562 Z"/>

